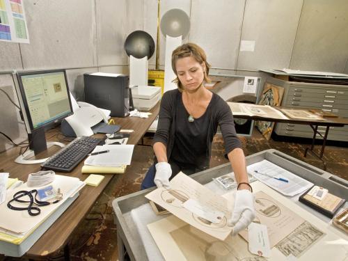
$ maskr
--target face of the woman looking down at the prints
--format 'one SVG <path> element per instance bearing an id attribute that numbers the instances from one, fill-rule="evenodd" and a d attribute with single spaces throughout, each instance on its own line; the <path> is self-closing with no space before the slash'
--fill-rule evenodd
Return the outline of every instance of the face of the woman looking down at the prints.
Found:
<path id="1" fill-rule="evenodd" d="M 187 91 L 195 91 L 203 83 L 205 69 L 193 56 L 178 59 L 176 71 L 177 78 Z"/>

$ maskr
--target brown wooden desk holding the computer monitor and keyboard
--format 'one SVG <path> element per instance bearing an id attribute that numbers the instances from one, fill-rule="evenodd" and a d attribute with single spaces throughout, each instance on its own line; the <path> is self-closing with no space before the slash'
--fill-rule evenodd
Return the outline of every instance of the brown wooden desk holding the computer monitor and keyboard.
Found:
<path id="1" fill-rule="evenodd" d="M 152 115 L 149 118 L 114 118 L 116 124 L 121 125 L 122 129 L 134 129 L 134 132 L 129 136 L 128 144 L 137 144 L 148 130 L 152 122 L 159 113 L 159 104 L 157 104 L 151 111 Z M 46 133 L 47 137 L 58 133 L 58 129 L 49 130 Z M 96 137 L 102 137 L 102 134 L 95 135 Z M 54 141 L 51 139 L 50 141 Z M 56 147 L 56 146 L 55 146 Z M 55 148 L 56 149 L 56 148 Z M 47 154 L 52 155 L 52 151 L 42 152 L 42 157 L 47 157 Z M 0 155 L 0 166 L 3 172 L 10 173 L 10 177 L 18 177 L 19 180 L 24 182 L 27 180 L 29 173 L 35 173 L 40 171 L 40 164 L 22 165 L 16 164 L 15 158 L 19 154 L 19 148 L 13 148 Z M 84 165 L 84 161 L 74 168 L 71 173 L 58 173 L 59 175 L 68 175 L 72 177 L 78 177 L 80 180 L 85 180 L 88 175 L 81 173 L 81 168 Z M 127 169 L 124 174 L 127 175 Z M 105 175 L 104 180 L 97 187 L 85 186 L 80 191 L 80 195 L 77 200 L 66 210 L 59 219 L 56 220 L 54 225 L 45 232 L 40 239 L 27 251 L 26 257 L 35 260 L 46 260 L 49 255 L 52 255 L 59 249 L 64 247 L 65 260 L 69 258 L 68 251 L 68 239 L 79 223 L 84 219 L 84 216 L 88 213 L 91 207 L 93 207 L 95 201 L 100 196 L 100 193 L 105 189 L 106 185 L 113 178 L 113 175 Z"/>

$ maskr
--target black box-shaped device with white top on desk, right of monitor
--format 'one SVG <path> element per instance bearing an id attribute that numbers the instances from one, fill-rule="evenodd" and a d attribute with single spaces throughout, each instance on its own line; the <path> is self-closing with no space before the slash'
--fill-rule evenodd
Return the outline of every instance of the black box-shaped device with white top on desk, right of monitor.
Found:
<path id="1" fill-rule="evenodd" d="M 111 111 L 110 116 L 129 115 L 129 77 L 125 74 L 84 74 L 85 102 Z M 132 99 L 132 98 L 131 98 Z"/>

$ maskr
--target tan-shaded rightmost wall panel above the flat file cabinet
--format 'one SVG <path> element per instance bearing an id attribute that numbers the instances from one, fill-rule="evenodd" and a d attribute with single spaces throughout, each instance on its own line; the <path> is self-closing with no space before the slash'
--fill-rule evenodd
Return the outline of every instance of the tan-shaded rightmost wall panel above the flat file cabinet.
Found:
<path id="1" fill-rule="evenodd" d="M 305 0 L 290 67 L 348 73 L 348 1 Z"/>

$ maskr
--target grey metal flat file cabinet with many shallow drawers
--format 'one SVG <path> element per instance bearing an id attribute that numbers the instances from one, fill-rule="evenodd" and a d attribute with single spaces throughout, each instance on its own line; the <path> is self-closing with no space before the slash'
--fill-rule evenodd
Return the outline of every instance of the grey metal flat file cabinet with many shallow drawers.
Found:
<path id="1" fill-rule="evenodd" d="M 348 86 L 346 85 L 283 81 L 276 78 L 267 78 L 266 82 L 285 89 L 281 106 L 322 109 L 342 118 L 348 118 Z M 326 127 L 319 126 L 318 130 L 324 135 Z M 282 136 L 313 137 L 313 129 L 309 125 L 277 123 L 274 132 Z M 348 126 L 330 127 L 328 139 L 348 141 Z"/>

